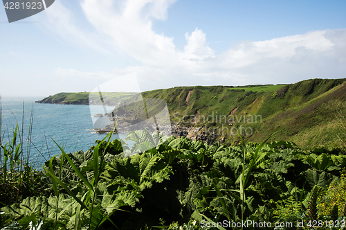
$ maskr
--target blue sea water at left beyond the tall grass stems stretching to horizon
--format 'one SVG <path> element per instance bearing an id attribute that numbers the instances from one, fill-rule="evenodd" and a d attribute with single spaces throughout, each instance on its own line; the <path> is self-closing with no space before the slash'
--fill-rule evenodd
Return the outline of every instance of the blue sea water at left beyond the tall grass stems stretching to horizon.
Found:
<path id="1" fill-rule="evenodd" d="M 1 142 L 12 139 L 16 123 L 24 136 L 24 154 L 30 150 L 30 162 L 39 169 L 44 161 L 61 151 L 52 139 L 65 152 L 88 150 L 95 140 L 103 139 L 106 134 L 93 132 L 93 119 L 96 113 L 104 114 L 102 105 L 52 105 L 38 104 L 42 97 L 1 97 Z M 24 109 L 23 109 L 24 105 Z M 92 109 L 89 108 L 92 107 Z M 113 107 L 107 107 L 107 111 Z M 91 114 L 92 112 L 95 114 Z M 24 114 L 23 114 L 24 111 Z M 30 130 L 30 116 L 33 114 L 31 144 L 27 141 Z M 24 119 L 23 119 L 24 117 Z M 24 123 L 22 122 L 24 121 Z M 21 135 L 21 132 L 20 132 Z M 125 139 L 126 134 L 113 134 L 112 139 Z"/>

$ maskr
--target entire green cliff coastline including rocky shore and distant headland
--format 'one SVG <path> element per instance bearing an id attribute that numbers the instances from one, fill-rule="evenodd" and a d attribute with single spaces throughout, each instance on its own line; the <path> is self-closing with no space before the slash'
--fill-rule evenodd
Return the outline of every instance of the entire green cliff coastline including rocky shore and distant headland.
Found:
<path id="1" fill-rule="evenodd" d="M 146 105 L 138 103 L 143 100 L 137 100 L 138 95 L 128 94 L 121 102 L 116 100 L 118 106 L 113 112 L 102 116 L 98 114 L 107 121 L 108 126 L 100 127 L 97 132 L 110 132 L 115 121 L 117 132 L 141 130 L 144 127 L 149 132 L 167 130 L 166 121 L 158 122 L 165 124 L 162 127 L 145 123 L 167 105 L 168 126 L 174 136 L 188 136 L 208 143 L 220 141 L 233 144 L 239 142 L 239 135 L 246 141 L 261 142 L 275 130 L 275 139 L 293 141 L 302 148 L 338 146 L 338 114 L 346 114 L 345 81 L 311 79 L 289 85 L 157 89 L 140 95 Z M 66 93 L 55 94 L 37 103 L 86 105 L 86 98 L 82 98 L 81 94 L 88 93 L 73 94 L 72 99 Z M 102 96 L 106 98 L 103 93 Z M 100 100 L 89 100 L 89 103 L 97 105 Z"/>

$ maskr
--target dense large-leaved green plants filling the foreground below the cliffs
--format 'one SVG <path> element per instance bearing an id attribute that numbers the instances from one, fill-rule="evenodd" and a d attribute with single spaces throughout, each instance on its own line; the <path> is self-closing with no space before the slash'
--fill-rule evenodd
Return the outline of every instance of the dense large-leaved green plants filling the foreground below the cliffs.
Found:
<path id="1" fill-rule="evenodd" d="M 345 179 L 346 155 L 338 149 L 303 151 L 287 141 L 208 145 L 145 130 L 127 136 L 137 143 L 130 149 L 110 135 L 86 152 L 62 150 L 46 161 L 42 182 L 34 183 L 45 194 L 3 206 L 0 227 L 240 229 L 215 222 L 252 220 L 313 229 L 316 218 L 345 218 L 345 183 L 332 190 Z M 337 206 L 325 215 L 334 197 Z"/>

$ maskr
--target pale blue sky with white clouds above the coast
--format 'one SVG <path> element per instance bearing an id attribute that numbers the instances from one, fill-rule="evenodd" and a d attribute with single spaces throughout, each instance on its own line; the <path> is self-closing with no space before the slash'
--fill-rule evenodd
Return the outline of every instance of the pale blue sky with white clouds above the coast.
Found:
<path id="1" fill-rule="evenodd" d="M 345 10 L 338 0 L 55 0 L 9 24 L 0 8 L 0 94 L 109 81 L 131 91 L 127 76 L 140 91 L 346 78 Z"/>

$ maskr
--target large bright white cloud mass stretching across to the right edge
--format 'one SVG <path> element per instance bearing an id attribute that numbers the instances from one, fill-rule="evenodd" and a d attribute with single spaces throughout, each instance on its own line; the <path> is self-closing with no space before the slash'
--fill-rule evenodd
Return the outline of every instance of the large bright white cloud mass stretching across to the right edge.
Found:
<path id="1" fill-rule="evenodd" d="M 115 65 L 112 73 L 57 69 L 54 75 L 106 81 L 134 72 L 143 91 L 179 85 L 277 84 L 308 78 L 345 78 L 345 29 L 244 41 L 215 54 L 208 46 L 208 35 L 196 28 L 185 33 L 186 45 L 179 51 L 173 37 L 152 29 L 153 20 L 168 18 L 167 10 L 172 3 L 172 0 L 80 0 L 84 23 L 93 27 L 91 35 L 78 28 L 67 8 L 57 4 L 48 21 L 61 37 L 92 48 L 122 51 L 143 65 L 124 69 Z"/>

